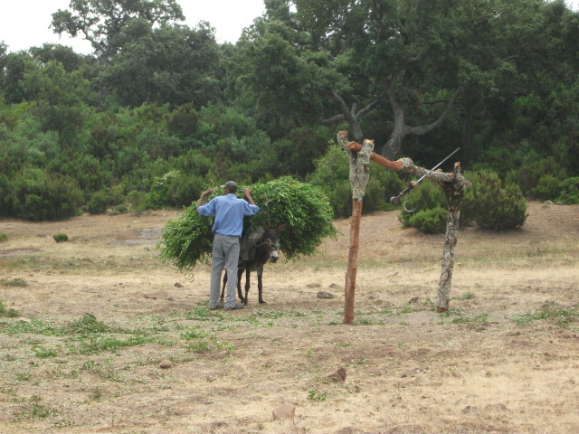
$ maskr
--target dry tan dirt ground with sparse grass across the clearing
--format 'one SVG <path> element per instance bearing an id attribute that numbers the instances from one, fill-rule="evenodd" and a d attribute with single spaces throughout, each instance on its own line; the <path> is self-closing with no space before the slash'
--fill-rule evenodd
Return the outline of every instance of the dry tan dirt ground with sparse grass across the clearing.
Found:
<path id="1" fill-rule="evenodd" d="M 17 315 L 0 317 L 0 433 L 577 432 L 579 206 L 528 213 L 517 231 L 460 230 L 442 315 L 443 237 L 364 216 L 354 325 L 347 220 L 318 255 L 266 266 L 267 304 L 253 282 L 235 312 L 206 309 L 207 265 L 159 262 L 175 212 L 1 220 Z M 124 332 L 78 337 L 85 314 Z M 144 340 L 109 350 L 109 335 Z"/>

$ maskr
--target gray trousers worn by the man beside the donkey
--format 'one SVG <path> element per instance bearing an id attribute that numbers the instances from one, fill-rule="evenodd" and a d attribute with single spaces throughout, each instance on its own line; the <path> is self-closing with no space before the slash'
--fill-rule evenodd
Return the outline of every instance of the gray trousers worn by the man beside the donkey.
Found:
<path id="1" fill-rule="evenodd" d="M 227 271 L 227 296 L 225 307 L 237 304 L 237 263 L 239 261 L 239 238 L 215 233 L 214 250 L 211 257 L 211 284 L 209 307 L 217 307 L 221 293 L 223 267 Z"/>

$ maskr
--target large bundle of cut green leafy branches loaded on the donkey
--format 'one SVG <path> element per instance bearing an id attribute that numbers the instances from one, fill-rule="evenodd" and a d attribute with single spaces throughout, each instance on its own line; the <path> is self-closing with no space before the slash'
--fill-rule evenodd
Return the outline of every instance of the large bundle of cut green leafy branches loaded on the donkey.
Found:
<path id="1" fill-rule="evenodd" d="M 281 250 L 287 259 L 312 255 L 326 237 L 337 234 L 332 224 L 333 212 L 322 190 L 311 184 L 300 183 L 289 176 L 266 184 L 250 186 L 260 212 L 246 217 L 243 233 L 253 231 L 261 222 L 277 227 L 288 223 L 280 231 Z M 237 196 L 243 197 L 243 187 Z M 208 199 L 222 194 L 220 189 Z M 213 246 L 213 218 L 202 217 L 192 203 L 176 220 L 167 222 L 159 244 L 161 259 L 180 271 L 192 271 L 198 261 L 210 258 Z"/>

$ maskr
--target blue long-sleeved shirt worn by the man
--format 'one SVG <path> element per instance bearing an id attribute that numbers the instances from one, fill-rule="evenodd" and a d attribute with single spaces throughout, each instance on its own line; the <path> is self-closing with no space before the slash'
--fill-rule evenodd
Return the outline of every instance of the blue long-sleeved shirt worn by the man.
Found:
<path id="1" fill-rule="evenodd" d="M 238 238 L 242 238 L 243 217 L 258 211 L 259 206 L 238 199 L 233 193 L 214 197 L 209 203 L 197 208 L 197 212 L 204 217 L 215 216 L 212 231 Z"/>

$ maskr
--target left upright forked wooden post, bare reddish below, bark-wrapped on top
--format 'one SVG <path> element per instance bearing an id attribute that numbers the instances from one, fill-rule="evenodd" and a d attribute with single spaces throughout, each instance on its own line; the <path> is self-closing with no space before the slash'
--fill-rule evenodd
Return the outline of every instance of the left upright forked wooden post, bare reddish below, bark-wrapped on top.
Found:
<path id="1" fill-rule="evenodd" d="M 337 133 L 337 142 L 350 157 L 350 185 L 352 187 L 352 219 L 350 220 L 350 249 L 347 257 L 346 286 L 344 288 L 344 324 L 354 322 L 354 298 L 356 296 L 356 274 L 358 250 L 360 249 L 360 220 L 362 218 L 362 199 L 370 177 L 370 156 L 374 142 L 365 140 L 364 145 L 353 150 L 348 147 L 347 131 Z"/>

